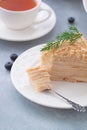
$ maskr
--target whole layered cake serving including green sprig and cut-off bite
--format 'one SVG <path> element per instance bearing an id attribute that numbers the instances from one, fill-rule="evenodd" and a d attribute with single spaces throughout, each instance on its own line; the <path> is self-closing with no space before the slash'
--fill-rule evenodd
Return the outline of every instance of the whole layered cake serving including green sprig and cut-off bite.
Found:
<path id="1" fill-rule="evenodd" d="M 50 89 L 50 80 L 87 82 L 87 40 L 76 27 L 69 27 L 41 49 L 40 66 L 27 73 L 38 91 Z"/>

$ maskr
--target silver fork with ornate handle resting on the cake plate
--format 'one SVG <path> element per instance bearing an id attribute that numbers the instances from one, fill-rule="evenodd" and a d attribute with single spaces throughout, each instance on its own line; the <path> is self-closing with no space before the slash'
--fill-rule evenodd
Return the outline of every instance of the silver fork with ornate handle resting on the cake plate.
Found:
<path id="1" fill-rule="evenodd" d="M 73 108 L 74 110 L 76 110 L 76 111 L 78 111 L 78 112 L 86 112 L 86 108 L 85 108 L 85 107 L 83 107 L 83 106 L 81 106 L 81 105 L 79 105 L 79 104 L 77 104 L 77 103 L 75 103 L 75 102 L 73 102 L 73 101 L 67 99 L 66 97 L 62 96 L 61 94 L 59 94 L 58 92 L 56 92 L 56 91 L 53 90 L 53 89 L 51 89 L 51 90 L 49 90 L 49 91 L 50 91 L 51 93 L 53 93 L 53 94 L 56 94 L 56 96 L 59 96 L 59 97 L 63 98 L 68 104 L 70 104 L 70 105 L 72 106 L 72 108 Z"/>

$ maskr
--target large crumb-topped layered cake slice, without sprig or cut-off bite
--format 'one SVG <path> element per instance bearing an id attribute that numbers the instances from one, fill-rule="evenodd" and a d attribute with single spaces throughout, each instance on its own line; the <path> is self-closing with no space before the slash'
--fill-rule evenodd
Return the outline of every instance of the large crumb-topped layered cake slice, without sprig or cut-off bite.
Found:
<path id="1" fill-rule="evenodd" d="M 59 48 L 42 51 L 41 66 L 51 80 L 87 82 L 87 41 L 81 37 L 73 44 L 65 41 Z"/>

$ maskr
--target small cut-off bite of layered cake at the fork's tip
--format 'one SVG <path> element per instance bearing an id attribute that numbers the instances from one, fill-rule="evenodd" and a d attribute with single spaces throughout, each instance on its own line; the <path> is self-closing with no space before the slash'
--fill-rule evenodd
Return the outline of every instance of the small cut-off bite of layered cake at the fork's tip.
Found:
<path id="1" fill-rule="evenodd" d="M 38 66 L 28 69 L 27 73 L 36 91 L 51 89 L 50 75 L 47 72 L 47 69 Z"/>

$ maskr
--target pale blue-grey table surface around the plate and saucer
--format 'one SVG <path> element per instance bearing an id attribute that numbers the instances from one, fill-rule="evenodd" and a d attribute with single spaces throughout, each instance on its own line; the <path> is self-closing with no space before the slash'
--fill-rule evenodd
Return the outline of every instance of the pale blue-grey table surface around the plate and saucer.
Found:
<path id="1" fill-rule="evenodd" d="M 56 26 L 49 34 L 38 40 L 21 43 L 0 40 L 0 130 L 87 130 L 87 112 L 52 109 L 32 103 L 16 91 L 9 72 L 4 69 L 11 53 L 21 54 L 28 48 L 54 39 L 67 28 L 67 18 L 70 16 L 75 17 L 75 24 L 86 36 L 87 14 L 81 0 L 44 2 L 54 9 L 57 16 Z"/>

